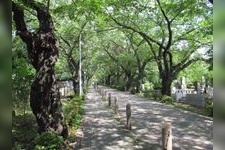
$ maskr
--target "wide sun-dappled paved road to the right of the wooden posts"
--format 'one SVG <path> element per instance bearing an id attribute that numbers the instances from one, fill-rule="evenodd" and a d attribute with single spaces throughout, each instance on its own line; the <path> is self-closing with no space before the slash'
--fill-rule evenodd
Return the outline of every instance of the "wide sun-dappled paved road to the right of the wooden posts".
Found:
<path id="1" fill-rule="evenodd" d="M 107 87 L 99 88 L 106 89 L 107 93 L 113 91 L 112 99 L 118 98 L 118 113 L 122 124 L 126 122 L 126 104 L 131 104 L 131 132 L 140 140 L 140 147 L 160 147 L 161 125 L 163 122 L 171 122 L 174 150 L 213 149 L 212 118 Z"/>

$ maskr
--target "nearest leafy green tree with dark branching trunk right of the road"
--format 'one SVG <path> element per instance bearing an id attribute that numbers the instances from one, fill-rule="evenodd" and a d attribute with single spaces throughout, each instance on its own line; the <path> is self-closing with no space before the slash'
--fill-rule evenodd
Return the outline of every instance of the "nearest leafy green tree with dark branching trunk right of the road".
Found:
<path id="1" fill-rule="evenodd" d="M 197 54 L 198 49 L 209 50 L 212 45 L 211 34 L 206 35 L 203 31 L 212 28 L 212 10 L 204 12 L 206 3 L 196 1 L 156 0 L 156 4 L 150 6 L 143 1 L 124 5 L 125 10 L 117 8 L 108 15 L 117 25 L 137 33 L 149 45 L 158 66 L 162 94 L 171 95 L 172 81 L 179 72 L 203 60 Z M 121 12 L 125 15 L 122 16 Z M 193 38 L 195 35 L 198 37 Z M 174 53 L 181 54 L 177 61 Z"/>

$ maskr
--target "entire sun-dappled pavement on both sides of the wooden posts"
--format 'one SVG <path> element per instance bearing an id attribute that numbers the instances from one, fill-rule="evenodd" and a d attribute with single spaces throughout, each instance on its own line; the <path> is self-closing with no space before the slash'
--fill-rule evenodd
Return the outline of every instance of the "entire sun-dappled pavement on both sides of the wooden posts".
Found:
<path id="1" fill-rule="evenodd" d="M 90 89 L 85 105 L 83 149 L 161 150 L 161 125 L 165 121 L 172 124 L 173 150 L 213 149 L 212 118 L 107 87 L 99 86 L 99 90 L 111 93 L 112 99 L 118 98 L 119 123 L 113 119 L 111 109 L 104 107 L 106 101 Z M 129 134 L 123 130 L 128 102 L 132 105 Z"/>

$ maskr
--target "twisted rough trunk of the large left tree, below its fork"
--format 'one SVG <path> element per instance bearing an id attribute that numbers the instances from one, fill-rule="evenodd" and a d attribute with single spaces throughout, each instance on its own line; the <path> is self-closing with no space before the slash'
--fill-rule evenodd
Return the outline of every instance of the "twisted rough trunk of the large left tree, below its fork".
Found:
<path id="1" fill-rule="evenodd" d="M 55 131 L 59 135 L 67 137 L 67 127 L 63 122 L 63 112 L 60 95 L 55 79 L 54 64 L 57 58 L 57 49 L 44 48 L 39 43 L 52 45 L 46 39 L 54 40 L 53 34 L 42 34 L 43 39 L 35 38 L 34 47 L 29 51 L 35 52 L 32 63 L 36 69 L 36 77 L 31 86 L 30 106 L 37 119 L 39 131 Z M 53 46 L 54 47 L 54 46 Z"/>

